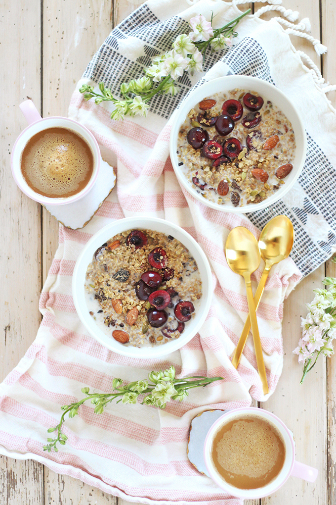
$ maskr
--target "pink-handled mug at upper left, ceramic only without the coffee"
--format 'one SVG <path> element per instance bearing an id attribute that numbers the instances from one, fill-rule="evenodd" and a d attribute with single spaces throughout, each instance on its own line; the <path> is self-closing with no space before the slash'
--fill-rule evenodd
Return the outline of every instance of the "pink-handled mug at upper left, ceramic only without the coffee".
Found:
<path id="1" fill-rule="evenodd" d="M 98 176 L 100 166 L 100 151 L 95 137 L 87 128 L 85 128 L 85 126 L 72 119 L 63 117 L 50 117 L 42 119 L 32 100 L 26 100 L 20 104 L 20 109 L 28 121 L 28 126 L 16 139 L 11 156 L 12 174 L 19 188 L 27 196 L 35 201 L 39 201 L 39 203 L 43 205 L 70 204 L 73 201 L 82 198 L 90 191 Z M 41 132 L 42 130 L 57 127 L 72 130 L 75 133 L 78 133 L 87 142 L 93 154 L 94 167 L 89 182 L 81 191 L 68 197 L 50 198 L 48 196 L 37 193 L 27 184 L 21 172 L 21 158 L 27 142 L 29 142 L 29 140 L 34 135 Z"/>

